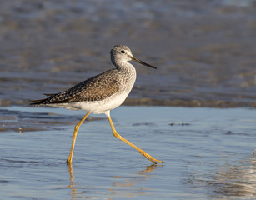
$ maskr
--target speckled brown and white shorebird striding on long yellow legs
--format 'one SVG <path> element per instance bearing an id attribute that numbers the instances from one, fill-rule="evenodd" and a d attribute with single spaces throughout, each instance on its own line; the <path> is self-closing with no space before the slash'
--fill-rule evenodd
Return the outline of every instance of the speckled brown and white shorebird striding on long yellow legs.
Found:
<path id="1" fill-rule="evenodd" d="M 155 69 L 157 67 L 153 67 L 152 65 L 133 57 L 131 50 L 123 45 L 114 46 L 110 51 L 110 55 L 115 68 L 98 74 L 95 77 L 91 77 L 84 82 L 80 82 L 66 91 L 55 94 L 46 94 L 46 96 L 49 97 L 35 100 L 31 105 L 64 107 L 71 110 L 87 111 L 87 114 L 74 128 L 73 142 L 67 163 L 72 163 L 73 149 L 78 129 L 90 113 L 105 113 L 108 117 L 113 135 L 116 138 L 122 140 L 124 143 L 128 143 L 128 145 L 135 148 L 143 157 L 148 158 L 148 160 L 153 163 L 163 163 L 120 136 L 114 128 L 110 117 L 110 111 L 120 106 L 126 97 L 128 97 L 136 79 L 136 70 L 128 61 L 135 61 Z"/>

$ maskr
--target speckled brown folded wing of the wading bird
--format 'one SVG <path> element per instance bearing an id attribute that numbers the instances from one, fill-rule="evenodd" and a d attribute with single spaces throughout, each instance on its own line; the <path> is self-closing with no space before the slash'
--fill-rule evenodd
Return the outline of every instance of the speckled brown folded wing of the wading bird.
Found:
<path id="1" fill-rule="evenodd" d="M 32 102 L 32 105 L 101 101 L 118 92 L 120 86 L 120 82 L 118 82 L 120 80 L 119 76 L 117 69 L 109 70 L 80 82 L 64 92 L 53 94 L 42 100 L 36 100 Z"/>

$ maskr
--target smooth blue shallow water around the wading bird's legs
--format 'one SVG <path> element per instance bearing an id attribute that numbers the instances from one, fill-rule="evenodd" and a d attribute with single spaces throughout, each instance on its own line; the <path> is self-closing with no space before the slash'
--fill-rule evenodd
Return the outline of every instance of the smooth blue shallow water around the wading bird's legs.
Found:
<path id="1" fill-rule="evenodd" d="M 152 165 L 113 137 L 106 117 L 79 132 L 73 165 L 66 159 L 84 112 L 3 107 L 0 193 L 3 199 L 253 199 L 254 109 L 119 107 L 124 138 L 164 163 Z M 96 117 L 96 118 L 94 118 Z"/>

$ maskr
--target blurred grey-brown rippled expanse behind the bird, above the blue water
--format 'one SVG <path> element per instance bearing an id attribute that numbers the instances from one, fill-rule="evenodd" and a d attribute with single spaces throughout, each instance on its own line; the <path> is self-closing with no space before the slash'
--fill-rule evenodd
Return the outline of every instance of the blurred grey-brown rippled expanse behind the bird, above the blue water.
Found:
<path id="1" fill-rule="evenodd" d="M 2 1 L 0 106 L 28 105 L 113 67 L 138 66 L 127 105 L 253 107 L 256 1 Z"/>

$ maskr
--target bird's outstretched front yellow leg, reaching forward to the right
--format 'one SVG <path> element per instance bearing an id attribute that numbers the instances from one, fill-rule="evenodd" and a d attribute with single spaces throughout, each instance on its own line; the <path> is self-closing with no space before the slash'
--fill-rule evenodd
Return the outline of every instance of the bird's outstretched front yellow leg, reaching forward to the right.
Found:
<path id="1" fill-rule="evenodd" d="M 122 136 L 120 136 L 118 134 L 118 132 L 116 131 L 116 129 L 114 128 L 113 126 L 113 122 L 112 122 L 112 119 L 110 116 L 108 116 L 108 120 L 109 120 L 109 123 L 110 123 L 110 126 L 112 128 L 112 131 L 113 131 L 113 135 L 114 137 L 122 140 L 124 143 L 128 143 L 128 145 L 130 145 L 131 147 L 135 148 L 139 153 L 142 154 L 143 157 L 147 158 L 148 160 L 152 161 L 153 163 L 163 163 L 163 161 L 160 161 L 160 160 L 157 160 L 155 158 L 153 158 L 152 156 L 150 156 L 148 153 L 146 153 L 145 151 L 143 151 L 142 149 L 136 147 L 133 143 L 130 143 L 127 139 L 123 138 Z"/>

